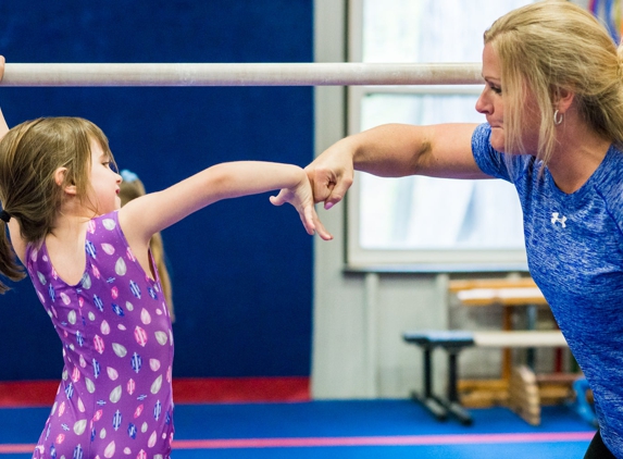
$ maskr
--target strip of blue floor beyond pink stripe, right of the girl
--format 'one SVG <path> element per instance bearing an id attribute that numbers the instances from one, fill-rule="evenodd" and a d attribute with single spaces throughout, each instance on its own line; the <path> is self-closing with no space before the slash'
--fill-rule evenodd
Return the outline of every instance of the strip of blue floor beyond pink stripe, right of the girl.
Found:
<path id="1" fill-rule="evenodd" d="M 438 422 L 411 400 L 312 401 L 307 404 L 182 405 L 175 437 L 256 438 L 383 436 L 509 432 L 591 431 L 566 407 L 544 407 L 532 426 L 506 408 L 470 410 L 471 426 Z"/>

